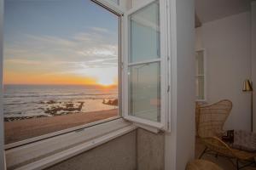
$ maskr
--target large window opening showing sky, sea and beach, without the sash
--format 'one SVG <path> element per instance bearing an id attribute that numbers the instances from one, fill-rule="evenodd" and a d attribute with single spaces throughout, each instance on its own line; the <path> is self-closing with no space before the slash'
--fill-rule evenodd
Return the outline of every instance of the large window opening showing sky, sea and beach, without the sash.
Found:
<path id="1" fill-rule="evenodd" d="M 4 37 L 5 144 L 119 116 L 118 15 L 7 0 Z"/>

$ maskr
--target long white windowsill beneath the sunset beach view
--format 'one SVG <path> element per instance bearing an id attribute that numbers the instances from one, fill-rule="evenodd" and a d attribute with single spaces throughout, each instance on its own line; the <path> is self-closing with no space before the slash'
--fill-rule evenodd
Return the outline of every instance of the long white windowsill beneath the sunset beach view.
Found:
<path id="1" fill-rule="evenodd" d="M 8 168 L 42 169 L 106 143 L 137 127 L 119 118 L 5 151 Z"/>

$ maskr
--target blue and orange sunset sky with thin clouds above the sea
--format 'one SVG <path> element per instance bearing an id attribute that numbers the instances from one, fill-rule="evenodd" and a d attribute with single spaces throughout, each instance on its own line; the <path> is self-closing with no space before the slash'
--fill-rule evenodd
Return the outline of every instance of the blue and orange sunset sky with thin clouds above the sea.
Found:
<path id="1" fill-rule="evenodd" d="M 4 83 L 116 84 L 118 24 L 90 0 L 6 0 Z"/>

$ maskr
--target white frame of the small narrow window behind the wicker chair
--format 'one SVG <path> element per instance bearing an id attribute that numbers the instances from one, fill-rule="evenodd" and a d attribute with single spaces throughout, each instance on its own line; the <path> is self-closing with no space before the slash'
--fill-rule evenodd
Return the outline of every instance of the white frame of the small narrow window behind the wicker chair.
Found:
<path id="1" fill-rule="evenodd" d="M 198 77 L 204 77 L 204 99 L 195 99 L 195 101 L 198 101 L 198 102 L 207 102 L 207 52 L 206 52 L 206 49 L 205 48 L 198 48 L 195 50 L 195 54 L 197 52 L 200 52 L 202 51 L 203 52 L 203 59 L 204 59 L 204 74 L 203 75 L 197 75 L 195 73 L 195 78 L 198 78 Z"/>

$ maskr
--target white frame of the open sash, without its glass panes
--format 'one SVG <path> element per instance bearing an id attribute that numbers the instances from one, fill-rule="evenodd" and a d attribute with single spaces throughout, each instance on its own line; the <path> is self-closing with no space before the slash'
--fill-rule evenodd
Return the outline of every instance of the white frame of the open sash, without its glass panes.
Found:
<path id="1" fill-rule="evenodd" d="M 131 10 L 125 12 L 124 14 L 124 27 L 125 27 L 125 41 L 124 41 L 124 69 L 123 69 L 123 87 L 125 87 L 123 91 L 123 98 L 124 105 L 123 105 L 123 116 L 126 120 L 131 121 L 131 122 L 136 122 L 138 125 L 143 125 L 143 126 L 148 126 L 148 127 L 156 127 L 160 130 L 168 130 L 168 122 L 166 122 L 166 118 L 168 117 L 168 95 L 169 95 L 169 88 L 168 86 L 168 77 L 167 77 L 167 50 L 166 50 L 166 31 L 167 31 L 167 26 L 166 26 L 166 0 L 159 0 L 160 2 L 160 59 L 151 59 L 148 60 L 147 62 L 137 62 L 137 63 L 132 63 L 129 64 L 129 20 L 128 17 L 130 14 L 133 14 L 137 12 L 139 9 L 144 8 L 148 6 L 150 3 L 154 3 L 156 0 L 148 0 L 146 3 L 142 3 L 136 8 L 131 8 Z M 128 67 L 130 65 L 139 65 L 139 64 L 146 64 L 146 63 L 154 63 L 154 62 L 160 62 L 160 77 L 161 77 L 161 82 L 160 82 L 160 122 L 153 122 L 149 121 L 143 118 L 139 118 L 136 116 L 131 116 L 129 114 L 129 109 L 128 109 Z M 169 87 L 169 88 L 168 88 Z M 142 127 L 143 127 L 142 126 Z"/>

